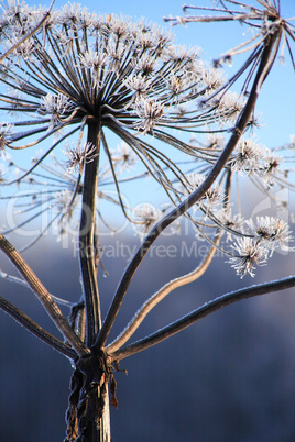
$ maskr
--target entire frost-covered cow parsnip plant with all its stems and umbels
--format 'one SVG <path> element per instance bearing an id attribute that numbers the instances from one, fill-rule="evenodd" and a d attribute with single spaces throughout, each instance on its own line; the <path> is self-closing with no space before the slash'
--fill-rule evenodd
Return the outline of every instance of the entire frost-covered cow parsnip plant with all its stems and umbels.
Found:
<path id="1" fill-rule="evenodd" d="M 233 4 L 234 10 L 225 3 Z M 277 189 L 294 190 L 294 142 L 270 150 L 259 145 L 253 133 L 258 125 L 255 103 L 274 60 L 283 54 L 281 49 L 291 53 L 294 65 L 294 26 L 281 18 L 275 1 L 258 3 L 262 9 L 220 2 L 220 8 L 210 9 L 217 13 L 210 16 L 188 15 L 186 7 L 183 18 L 167 19 L 172 23 L 239 20 L 256 32 L 214 67 L 199 58 L 198 48 L 176 46 L 171 33 L 144 20 L 133 23 L 123 16 L 97 15 L 75 3 L 50 11 L 24 2 L 2 5 L 0 109 L 6 120 L 0 125 L 1 199 L 10 201 L 9 189 L 15 191 L 17 186 L 21 202 L 15 208 L 21 219 L 0 235 L 0 247 L 21 278 L 2 276 L 31 287 L 65 342 L 8 300 L 1 298 L 0 307 L 75 362 L 67 441 L 110 440 L 108 385 L 111 402 L 117 406 L 113 371 L 120 360 L 225 305 L 295 285 L 295 278 L 289 277 L 225 295 L 127 344 L 164 297 L 207 270 L 216 251 L 222 252 L 241 277 L 254 276 L 255 268 L 266 264 L 276 248 L 292 251 L 287 220 L 273 216 L 247 220 L 232 197 L 233 184 L 241 176 L 274 200 Z M 250 55 L 242 68 L 226 80 L 220 65 L 247 51 Z M 238 96 L 229 89 L 243 74 L 245 81 Z M 120 140 L 117 150 L 113 136 Z M 36 152 L 39 147 L 45 152 Z M 29 158 L 33 154 L 30 165 L 28 161 L 28 165 L 18 164 L 15 151 L 24 150 Z M 149 205 L 134 208 L 125 202 L 122 186 L 143 186 L 149 177 L 166 197 L 165 209 Z M 150 185 L 148 195 L 149 189 Z M 97 280 L 102 265 L 99 239 L 102 228 L 111 229 L 103 201 L 135 226 L 141 245 L 102 316 L 103 294 Z M 287 208 L 282 205 L 280 209 Z M 83 297 L 75 306 L 50 295 L 7 239 L 44 213 L 48 213 L 46 225 L 26 246 L 33 246 L 53 224 L 58 224 L 61 235 L 69 223 L 77 224 Z M 152 295 L 109 343 L 134 273 L 154 241 L 182 216 L 197 236 L 209 243 L 207 255 L 193 272 L 167 281 Z M 69 320 L 58 302 L 72 308 Z"/>

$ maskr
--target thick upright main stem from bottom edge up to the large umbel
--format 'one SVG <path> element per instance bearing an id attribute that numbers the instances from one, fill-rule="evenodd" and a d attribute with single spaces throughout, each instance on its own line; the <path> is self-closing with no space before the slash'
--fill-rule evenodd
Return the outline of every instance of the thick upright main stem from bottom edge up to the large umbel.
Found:
<path id="1" fill-rule="evenodd" d="M 97 285 L 96 199 L 100 147 L 100 125 L 88 122 L 87 143 L 96 146 L 95 158 L 86 161 L 79 230 L 79 258 L 86 307 L 86 344 L 90 349 L 101 327 Z M 66 415 L 66 441 L 110 442 L 108 382 L 111 371 L 102 350 L 76 361 Z"/>

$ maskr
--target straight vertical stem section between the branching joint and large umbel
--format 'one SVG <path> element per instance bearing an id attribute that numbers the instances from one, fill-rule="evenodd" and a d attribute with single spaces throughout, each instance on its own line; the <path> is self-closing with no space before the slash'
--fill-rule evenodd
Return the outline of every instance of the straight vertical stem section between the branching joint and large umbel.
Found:
<path id="1" fill-rule="evenodd" d="M 91 120 L 88 123 L 88 143 L 96 146 L 99 154 L 100 125 L 98 121 Z M 96 198 L 98 184 L 99 156 L 85 164 L 83 207 L 79 230 L 79 257 L 83 279 L 84 299 L 86 307 L 87 335 L 86 344 L 90 347 L 101 327 L 99 292 L 95 265 L 95 222 L 96 222 Z"/>

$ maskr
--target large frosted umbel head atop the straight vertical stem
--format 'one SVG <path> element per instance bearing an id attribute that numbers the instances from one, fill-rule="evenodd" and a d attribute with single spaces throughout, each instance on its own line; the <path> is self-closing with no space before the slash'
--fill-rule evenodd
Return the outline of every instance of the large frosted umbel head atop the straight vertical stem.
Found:
<path id="1" fill-rule="evenodd" d="M 46 12 L 12 4 L 0 23 L 2 53 Z M 133 135 L 151 134 L 193 153 L 166 132 L 194 130 L 205 119 L 210 123 L 229 114 L 223 104 L 206 112 L 206 118 L 199 110 L 197 99 L 208 96 L 221 80 L 216 71 L 208 75 L 197 54 L 198 49 L 174 46 L 168 33 L 144 20 L 133 24 L 127 18 L 89 13 L 75 3 L 54 11 L 1 65 L 1 80 L 7 85 L 1 109 L 20 119 L 6 145 L 31 146 L 62 129 L 64 133 L 69 126 L 83 131 L 96 119 L 153 169 L 159 168 L 153 150 L 131 137 L 130 130 Z M 26 142 L 32 134 L 34 141 Z"/>

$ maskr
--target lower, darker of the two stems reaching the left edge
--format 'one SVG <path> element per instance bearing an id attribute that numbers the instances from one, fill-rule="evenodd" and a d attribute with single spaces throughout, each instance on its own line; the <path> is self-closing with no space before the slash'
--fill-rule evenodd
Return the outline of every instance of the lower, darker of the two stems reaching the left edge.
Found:
<path id="1" fill-rule="evenodd" d="M 51 333 L 48 333 L 31 318 L 29 318 L 25 313 L 23 313 L 15 306 L 13 306 L 11 302 L 2 297 L 0 297 L 0 308 L 41 341 L 57 350 L 57 352 L 64 354 L 70 360 L 75 360 L 75 357 L 77 357 L 77 353 L 73 349 L 70 349 L 70 346 L 64 344 L 57 338 L 53 336 Z"/>

